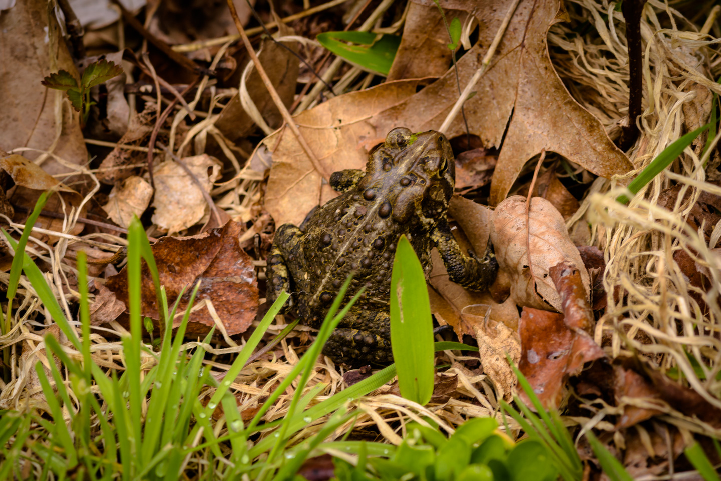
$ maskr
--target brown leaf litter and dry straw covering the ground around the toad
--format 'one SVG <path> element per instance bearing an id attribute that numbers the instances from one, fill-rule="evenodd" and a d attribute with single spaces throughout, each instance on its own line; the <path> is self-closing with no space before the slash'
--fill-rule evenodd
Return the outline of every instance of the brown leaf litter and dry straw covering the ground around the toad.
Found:
<path id="1" fill-rule="evenodd" d="M 338 195 L 333 172 L 363 169 L 392 128 L 443 126 L 456 163 L 451 231 L 462 252 L 494 255 L 499 268 L 488 291 L 466 291 L 434 250 L 431 311 L 439 339 L 479 352 L 438 353 L 428 410 L 409 414 L 390 383 L 358 400 L 357 423 L 337 434 L 397 444 L 399 420 L 417 415 L 448 432 L 473 416 L 502 425 L 501 400 L 530 404 L 510 359 L 541 405 L 565 415 L 584 479 L 605 479 L 590 430 L 634 477 L 685 476 L 679 456 L 694 436 L 721 435 L 719 129 L 628 204 L 616 198 L 676 139 L 718 118 L 719 11 L 642 2 L 642 57 L 629 58 L 629 2 L 234 0 L 254 60 L 224 1 L 11 1 L 0 6 L 0 224 L 18 239 L 37 198 L 53 191 L 27 226 L 26 252 L 73 320 L 76 260 L 87 255 L 92 358 L 110 372 L 122 369 L 126 236 L 139 219 L 168 302 L 179 302 L 173 327 L 200 286 L 186 333 L 198 340 L 215 328 L 203 347 L 218 379 L 268 308 L 275 230 Z M 68 8 L 79 30 L 62 25 Z M 317 41 L 341 30 L 399 38 L 383 52 L 388 75 Z M 629 119 L 634 69 L 642 114 Z M 629 123 L 639 136 L 622 151 Z M 0 269 L 11 262 L 3 244 Z M 149 349 L 164 329 L 155 289 L 143 263 Z M 17 354 L 0 363 L 1 409 L 45 409 L 34 368 L 50 373 L 43 335 L 72 349 L 36 294 L 22 273 L 3 306 L 12 315 L 0 348 Z M 315 335 L 301 319 L 271 342 L 295 315 L 275 319 L 233 384 L 244 421 Z M 143 357 L 143 369 L 153 363 Z M 339 371 L 321 356 L 309 387 L 332 396 L 376 367 Z M 283 396 L 263 422 L 287 414 Z M 222 418 L 218 408 L 212 421 Z M 301 471 L 332 475 L 328 459 L 316 461 Z"/>

